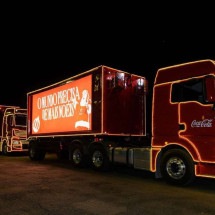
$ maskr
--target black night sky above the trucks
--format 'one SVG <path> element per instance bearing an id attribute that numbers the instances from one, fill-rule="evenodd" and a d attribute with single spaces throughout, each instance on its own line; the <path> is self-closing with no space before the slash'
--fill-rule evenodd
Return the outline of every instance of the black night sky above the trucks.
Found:
<path id="1" fill-rule="evenodd" d="M 2 22 L 0 104 L 26 107 L 28 92 L 99 65 L 153 84 L 161 67 L 215 59 L 210 5 L 155 5 L 153 13 L 129 4 L 17 6 L 5 8 Z"/>

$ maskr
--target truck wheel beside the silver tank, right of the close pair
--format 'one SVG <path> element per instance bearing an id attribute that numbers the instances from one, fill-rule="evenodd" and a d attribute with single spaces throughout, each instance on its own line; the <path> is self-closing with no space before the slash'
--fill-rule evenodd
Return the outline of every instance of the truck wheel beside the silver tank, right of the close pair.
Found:
<path id="1" fill-rule="evenodd" d="M 104 148 L 96 146 L 90 153 L 91 167 L 98 171 L 107 171 L 109 169 L 109 159 Z"/>

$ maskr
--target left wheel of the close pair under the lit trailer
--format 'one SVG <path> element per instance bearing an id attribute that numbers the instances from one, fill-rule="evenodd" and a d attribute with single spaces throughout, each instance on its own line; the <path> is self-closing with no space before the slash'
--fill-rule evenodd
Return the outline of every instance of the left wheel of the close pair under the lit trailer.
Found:
<path id="1" fill-rule="evenodd" d="M 74 167 L 84 166 L 84 155 L 80 146 L 72 146 L 69 153 L 69 159 Z"/>

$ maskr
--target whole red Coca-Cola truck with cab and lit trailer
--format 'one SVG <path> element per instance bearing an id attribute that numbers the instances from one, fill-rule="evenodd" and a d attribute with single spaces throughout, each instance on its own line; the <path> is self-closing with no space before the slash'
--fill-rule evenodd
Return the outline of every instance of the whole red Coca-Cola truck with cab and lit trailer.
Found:
<path id="1" fill-rule="evenodd" d="M 159 69 L 152 95 L 149 84 L 102 65 L 27 93 L 30 159 L 52 151 L 75 167 L 122 164 L 183 186 L 215 178 L 215 61 Z"/>

